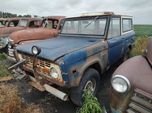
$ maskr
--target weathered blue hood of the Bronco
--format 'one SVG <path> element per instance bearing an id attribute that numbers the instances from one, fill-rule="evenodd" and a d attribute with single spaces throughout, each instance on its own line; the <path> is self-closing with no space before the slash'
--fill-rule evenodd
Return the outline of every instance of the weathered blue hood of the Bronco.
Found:
<path id="1" fill-rule="evenodd" d="M 99 39 L 91 39 L 86 37 L 80 38 L 59 36 L 53 39 L 46 39 L 19 45 L 17 47 L 17 50 L 27 54 L 32 54 L 32 46 L 38 46 L 41 48 L 41 53 L 38 55 L 38 57 L 54 61 L 57 58 L 64 56 L 70 52 L 95 44 L 98 42 L 98 40 Z"/>

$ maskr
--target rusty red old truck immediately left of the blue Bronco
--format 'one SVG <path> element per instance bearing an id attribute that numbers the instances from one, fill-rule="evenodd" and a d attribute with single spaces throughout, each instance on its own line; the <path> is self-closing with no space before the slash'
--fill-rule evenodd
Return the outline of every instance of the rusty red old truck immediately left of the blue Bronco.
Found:
<path id="1" fill-rule="evenodd" d="M 25 29 L 13 32 L 11 35 L 9 35 L 8 55 L 10 57 L 16 57 L 15 54 L 17 45 L 57 37 L 61 29 L 63 19 L 64 16 L 44 17 L 41 25 L 42 27 L 40 28 Z"/>

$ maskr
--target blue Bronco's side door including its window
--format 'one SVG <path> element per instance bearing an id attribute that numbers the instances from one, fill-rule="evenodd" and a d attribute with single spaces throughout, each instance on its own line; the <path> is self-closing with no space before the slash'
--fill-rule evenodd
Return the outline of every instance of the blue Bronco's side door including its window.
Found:
<path id="1" fill-rule="evenodd" d="M 109 65 L 116 63 L 122 56 L 123 38 L 121 37 L 121 19 L 112 17 L 108 31 L 108 60 Z"/>

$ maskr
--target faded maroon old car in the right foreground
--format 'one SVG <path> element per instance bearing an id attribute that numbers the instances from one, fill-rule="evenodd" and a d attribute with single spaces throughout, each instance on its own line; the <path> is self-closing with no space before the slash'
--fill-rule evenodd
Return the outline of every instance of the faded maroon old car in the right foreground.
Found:
<path id="1" fill-rule="evenodd" d="M 111 79 L 110 105 L 113 113 L 152 113 L 152 38 L 145 55 L 121 64 Z"/>

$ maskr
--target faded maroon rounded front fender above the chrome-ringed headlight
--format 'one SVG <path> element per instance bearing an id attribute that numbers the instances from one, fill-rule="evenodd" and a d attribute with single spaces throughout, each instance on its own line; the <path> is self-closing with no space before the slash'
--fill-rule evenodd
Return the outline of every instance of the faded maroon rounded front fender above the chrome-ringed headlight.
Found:
<path id="1" fill-rule="evenodd" d="M 152 68 L 143 56 L 130 58 L 117 68 L 114 75 L 123 75 L 133 87 L 152 94 Z"/>

